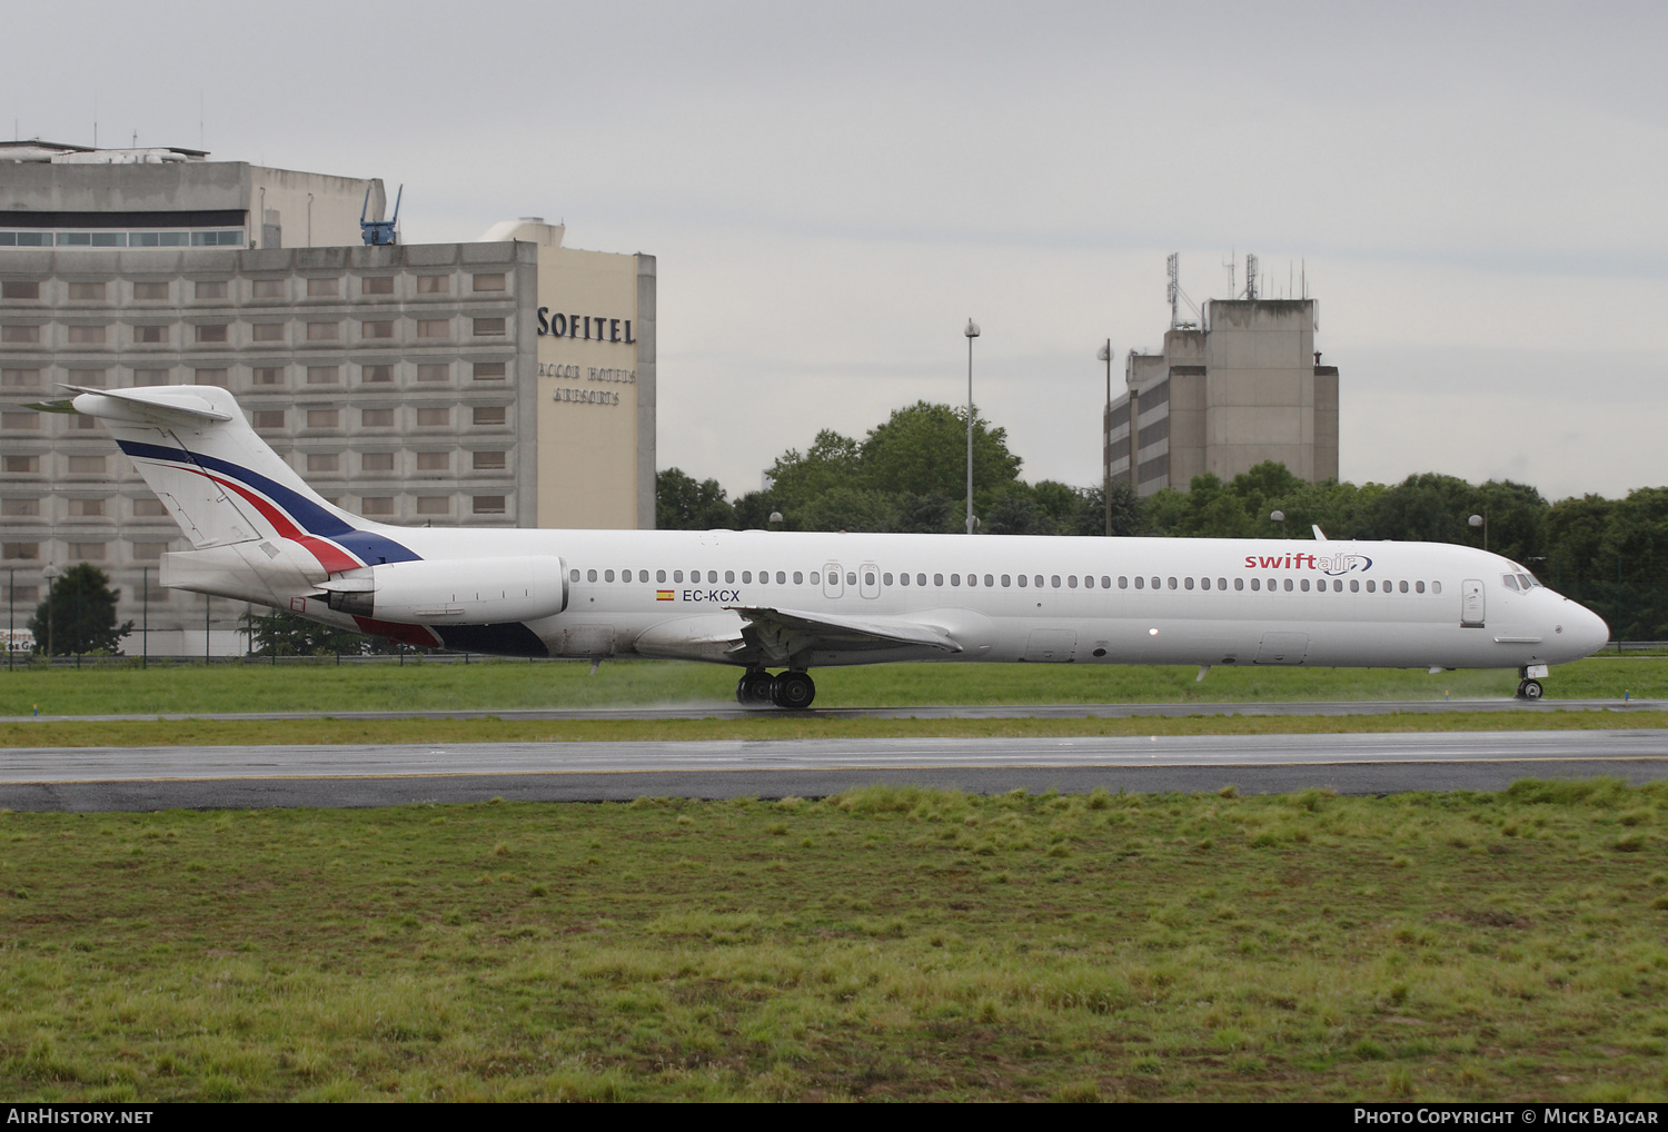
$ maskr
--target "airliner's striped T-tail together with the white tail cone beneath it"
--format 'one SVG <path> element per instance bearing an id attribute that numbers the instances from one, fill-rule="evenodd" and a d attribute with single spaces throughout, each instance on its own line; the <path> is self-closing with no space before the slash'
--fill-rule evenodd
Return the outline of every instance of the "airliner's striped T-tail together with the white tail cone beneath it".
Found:
<path id="1" fill-rule="evenodd" d="M 163 558 L 163 585 L 285 607 L 330 575 L 419 557 L 320 498 L 222 388 L 75 392 L 192 542 Z"/>

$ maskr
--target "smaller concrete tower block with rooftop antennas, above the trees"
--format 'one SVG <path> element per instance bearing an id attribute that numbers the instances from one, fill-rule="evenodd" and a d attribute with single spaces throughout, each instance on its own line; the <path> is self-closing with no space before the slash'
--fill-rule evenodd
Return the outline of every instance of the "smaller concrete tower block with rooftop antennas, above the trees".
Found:
<path id="1" fill-rule="evenodd" d="M 1213 298 L 1204 328 L 1131 352 L 1103 427 L 1106 485 L 1139 495 L 1231 480 L 1264 460 L 1319 482 L 1338 477 L 1338 367 L 1314 352 L 1313 298 Z"/>

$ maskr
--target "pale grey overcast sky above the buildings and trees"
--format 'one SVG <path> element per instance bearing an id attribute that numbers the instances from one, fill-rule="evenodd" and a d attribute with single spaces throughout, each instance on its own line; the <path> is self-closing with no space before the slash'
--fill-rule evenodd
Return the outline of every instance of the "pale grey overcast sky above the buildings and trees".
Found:
<path id="1" fill-rule="evenodd" d="M 1304 272 L 1341 473 L 1668 483 L 1665 5 L 12 5 L 22 137 L 405 185 L 659 257 L 661 467 L 732 493 L 974 385 L 1026 478 L 1099 480 L 1098 347 L 1164 257 Z M 198 102 L 202 132 L 198 132 Z M 1243 268 L 1241 268 L 1243 270 Z M 1241 275 L 1243 282 L 1243 275 Z M 1264 293 L 1269 293 L 1264 288 Z M 1121 377 L 1114 375 L 1114 380 Z"/>

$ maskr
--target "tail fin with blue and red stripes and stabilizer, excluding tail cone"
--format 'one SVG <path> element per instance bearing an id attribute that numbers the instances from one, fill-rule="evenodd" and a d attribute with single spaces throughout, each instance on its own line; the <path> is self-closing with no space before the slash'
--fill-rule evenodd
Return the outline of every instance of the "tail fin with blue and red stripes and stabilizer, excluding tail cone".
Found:
<path id="1" fill-rule="evenodd" d="M 70 387 L 70 405 L 97 417 L 198 550 L 292 540 L 327 574 L 414 552 L 307 487 L 262 440 L 237 398 L 210 385 L 100 390 Z"/>

